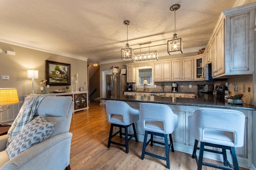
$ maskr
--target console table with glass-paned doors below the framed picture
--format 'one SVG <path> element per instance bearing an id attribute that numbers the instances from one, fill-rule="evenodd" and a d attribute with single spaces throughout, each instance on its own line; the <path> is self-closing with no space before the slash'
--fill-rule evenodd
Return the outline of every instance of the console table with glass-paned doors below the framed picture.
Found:
<path id="1" fill-rule="evenodd" d="M 46 96 L 71 96 L 74 103 L 74 112 L 88 109 L 88 91 L 86 92 L 68 92 L 68 93 L 48 93 L 48 94 L 35 94 L 35 95 L 46 95 Z M 24 101 L 27 96 L 34 96 L 32 94 L 23 95 Z"/>

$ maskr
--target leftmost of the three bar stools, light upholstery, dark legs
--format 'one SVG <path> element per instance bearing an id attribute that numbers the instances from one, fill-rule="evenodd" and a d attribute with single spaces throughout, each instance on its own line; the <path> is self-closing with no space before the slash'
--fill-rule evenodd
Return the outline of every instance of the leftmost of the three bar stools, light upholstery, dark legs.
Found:
<path id="1" fill-rule="evenodd" d="M 139 120 L 139 111 L 137 109 L 133 109 L 127 103 L 122 101 L 114 101 L 107 100 L 106 101 L 106 113 L 108 123 L 111 123 L 110 133 L 108 138 L 108 148 L 110 144 L 113 143 L 115 145 L 119 145 L 125 147 L 125 152 L 128 153 L 128 142 L 135 137 L 135 141 L 138 142 L 138 137 L 135 129 L 135 122 Z M 132 125 L 134 134 L 128 134 L 128 127 Z M 119 131 L 113 134 L 113 127 L 119 127 Z M 122 133 L 122 128 L 124 128 L 124 133 Z M 125 144 L 117 143 L 112 140 L 112 137 L 120 134 L 120 138 L 122 135 L 125 136 Z M 130 136 L 130 138 L 128 138 Z"/>

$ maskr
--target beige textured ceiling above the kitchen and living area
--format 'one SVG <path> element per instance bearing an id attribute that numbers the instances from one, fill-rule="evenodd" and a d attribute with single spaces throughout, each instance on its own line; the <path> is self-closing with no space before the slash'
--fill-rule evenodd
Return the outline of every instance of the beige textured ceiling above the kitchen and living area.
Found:
<path id="1" fill-rule="evenodd" d="M 128 41 L 152 41 L 150 51 L 167 51 L 174 31 L 183 48 L 206 46 L 222 10 L 235 0 L 1 0 L 0 39 L 88 58 L 88 64 L 120 59 Z M 141 51 L 148 51 L 148 45 Z M 168 53 L 166 52 L 166 55 Z"/>

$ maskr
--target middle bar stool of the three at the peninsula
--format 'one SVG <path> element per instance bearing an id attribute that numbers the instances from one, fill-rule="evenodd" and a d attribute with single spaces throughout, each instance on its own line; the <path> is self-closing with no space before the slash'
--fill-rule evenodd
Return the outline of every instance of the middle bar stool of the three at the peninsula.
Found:
<path id="1" fill-rule="evenodd" d="M 178 125 L 177 115 L 174 114 L 172 109 L 167 105 L 143 103 L 140 104 L 140 125 L 145 131 L 141 159 L 143 160 L 145 154 L 147 154 L 155 158 L 166 160 L 166 167 L 170 169 L 169 150 L 171 148 L 172 152 L 174 152 L 172 132 Z M 150 134 L 150 140 L 147 141 L 148 134 Z M 164 143 L 154 141 L 154 135 L 164 137 Z M 168 135 L 170 144 L 168 144 Z M 151 147 L 153 143 L 164 145 L 166 157 L 146 152 L 145 149 L 149 143 Z"/>

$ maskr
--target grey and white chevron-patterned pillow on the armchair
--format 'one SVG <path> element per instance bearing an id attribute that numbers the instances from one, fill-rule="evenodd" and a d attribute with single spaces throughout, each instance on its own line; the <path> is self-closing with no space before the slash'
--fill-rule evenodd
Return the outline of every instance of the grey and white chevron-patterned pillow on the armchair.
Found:
<path id="1" fill-rule="evenodd" d="M 55 124 L 48 123 L 42 115 L 30 121 L 6 148 L 9 158 L 11 159 L 26 149 L 48 139 Z"/>

